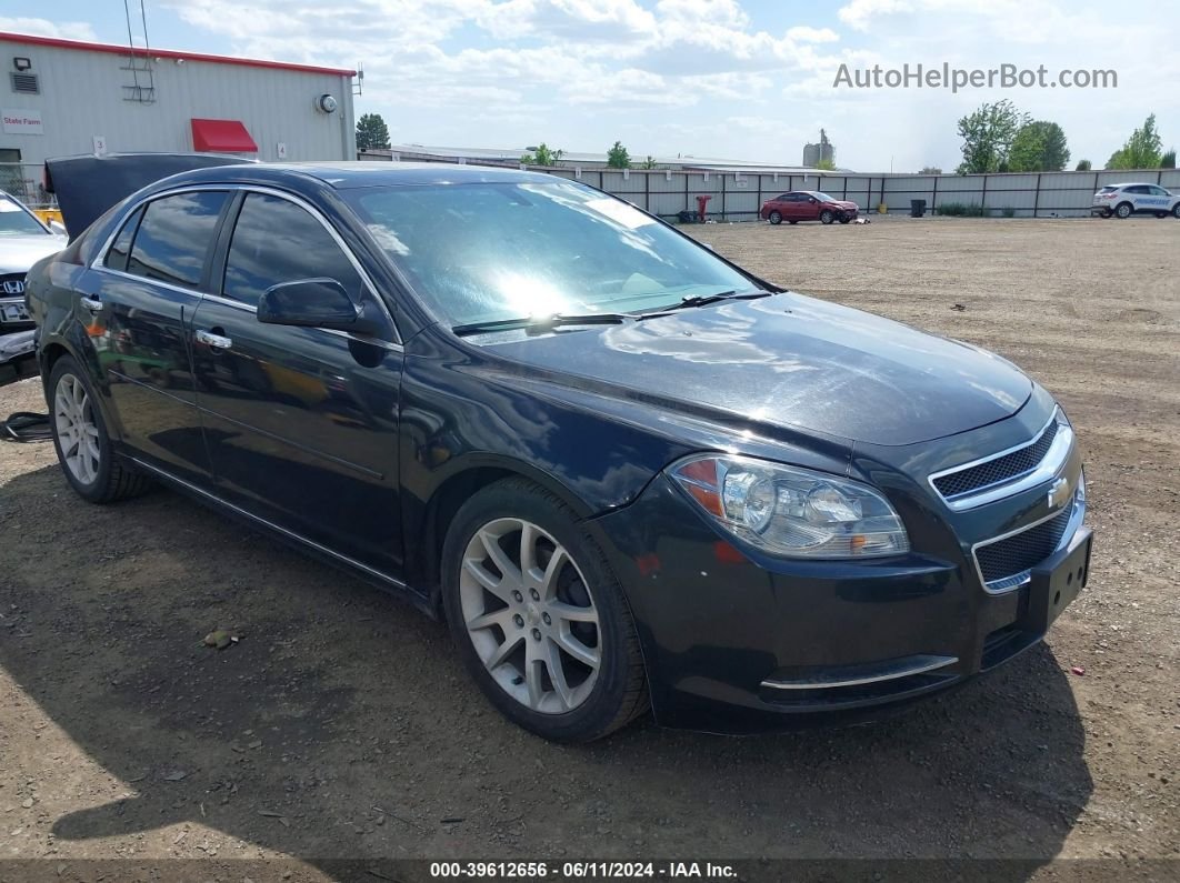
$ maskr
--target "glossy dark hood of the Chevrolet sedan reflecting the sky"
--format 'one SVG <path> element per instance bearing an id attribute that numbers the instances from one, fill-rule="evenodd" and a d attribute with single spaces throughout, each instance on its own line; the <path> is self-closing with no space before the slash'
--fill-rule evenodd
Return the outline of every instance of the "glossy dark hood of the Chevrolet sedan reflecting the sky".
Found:
<path id="1" fill-rule="evenodd" d="M 1010 362 L 860 310 L 782 294 L 494 350 L 569 386 L 872 444 L 1003 420 L 1032 382 Z M 773 434 L 773 433 L 772 433 Z"/>

